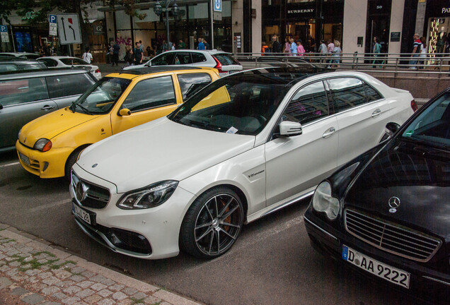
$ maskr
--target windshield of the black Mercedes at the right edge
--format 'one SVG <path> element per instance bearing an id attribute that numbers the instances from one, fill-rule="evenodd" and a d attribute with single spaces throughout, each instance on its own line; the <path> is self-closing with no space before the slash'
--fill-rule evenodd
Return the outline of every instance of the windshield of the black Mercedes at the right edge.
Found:
<path id="1" fill-rule="evenodd" d="M 450 147 L 450 93 L 439 97 L 405 129 L 402 136 L 435 146 Z"/>

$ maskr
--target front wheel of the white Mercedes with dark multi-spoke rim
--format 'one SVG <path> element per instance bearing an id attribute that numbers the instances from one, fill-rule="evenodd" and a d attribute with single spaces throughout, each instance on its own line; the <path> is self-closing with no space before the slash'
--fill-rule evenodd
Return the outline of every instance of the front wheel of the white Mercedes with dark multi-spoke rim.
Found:
<path id="1" fill-rule="evenodd" d="M 221 256 L 238 239 L 243 213 L 241 199 L 227 187 L 202 193 L 181 225 L 180 248 L 197 258 Z"/>

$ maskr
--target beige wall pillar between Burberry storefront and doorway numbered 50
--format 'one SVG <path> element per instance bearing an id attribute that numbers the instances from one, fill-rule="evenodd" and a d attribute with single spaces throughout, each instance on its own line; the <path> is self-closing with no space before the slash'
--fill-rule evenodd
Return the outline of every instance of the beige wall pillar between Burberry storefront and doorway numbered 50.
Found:
<path id="1" fill-rule="evenodd" d="M 367 39 L 366 26 L 367 0 L 345 0 L 342 53 L 353 54 L 358 52 L 358 54 L 364 54 L 364 45 Z M 358 37 L 364 37 L 361 45 L 358 45 Z"/>

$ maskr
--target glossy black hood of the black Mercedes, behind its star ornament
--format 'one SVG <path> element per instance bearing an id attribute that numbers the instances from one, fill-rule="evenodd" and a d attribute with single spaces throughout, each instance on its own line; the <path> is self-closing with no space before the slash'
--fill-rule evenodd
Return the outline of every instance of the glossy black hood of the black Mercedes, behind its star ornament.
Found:
<path id="1" fill-rule="evenodd" d="M 393 140 L 357 177 L 345 205 L 450 241 L 449 169 L 449 152 Z M 400 206 L 391 213 L 394 196 Z"/>

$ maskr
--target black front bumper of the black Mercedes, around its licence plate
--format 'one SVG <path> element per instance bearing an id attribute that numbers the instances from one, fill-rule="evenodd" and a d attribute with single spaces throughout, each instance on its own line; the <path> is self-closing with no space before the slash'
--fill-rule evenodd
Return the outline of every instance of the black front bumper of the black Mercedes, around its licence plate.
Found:
<path id="1" fill-rule="evenodd" d="M 376 261 L 380 261 L 386 265 L 391 265 L 394 268 L 410 273 L 410 288 L 400 288 L 400 286 L 392 284 L 396 288 L 411 294 L 418 292 L 419 294 L 429 295 L 430 292 L 432 292 L 432 295 L 437 297 L 439 302 L 442 299 L 450 301 L 449 274 L 429 268 L 426 263 L 417 263 L 376 249 L 375 247 L 366 244 L 364 241 L 347 234 L 345 230 L 341 231 L 329 225 L 313 212 L 311 205 L 306 210 L 304 220 L 311 246 L 313 246 L 316 251 L 331 256 L 336 261 L 344 263 L 358 273 L 381 280 L 379 277 L 372 276 L 370 273 L 367 273 L 342 259 L 342 246 L 349 246 Z M 386 284 L 388 284 L 388 282 L 386 282 Z"/>

